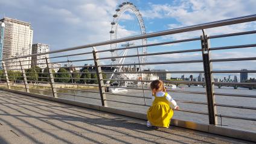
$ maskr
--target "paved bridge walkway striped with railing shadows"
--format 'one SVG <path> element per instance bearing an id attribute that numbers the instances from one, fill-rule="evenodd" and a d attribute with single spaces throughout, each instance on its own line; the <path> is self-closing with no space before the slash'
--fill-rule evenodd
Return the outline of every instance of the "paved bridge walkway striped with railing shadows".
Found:
<path id="1" fill-rule="evenodd" d="M 250 143 L 0 90 L 0 143 Z"/>

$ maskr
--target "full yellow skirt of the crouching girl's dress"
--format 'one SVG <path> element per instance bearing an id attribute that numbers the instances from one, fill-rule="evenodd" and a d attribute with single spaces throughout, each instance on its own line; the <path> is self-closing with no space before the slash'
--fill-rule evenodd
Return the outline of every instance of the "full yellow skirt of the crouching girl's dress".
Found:
<path id="1" fill-rule="evenodd" d="M 147 110 L 147 120 L 155 127 L 168 128 L 173 110 L 167 104 L 155 104 Z"/>

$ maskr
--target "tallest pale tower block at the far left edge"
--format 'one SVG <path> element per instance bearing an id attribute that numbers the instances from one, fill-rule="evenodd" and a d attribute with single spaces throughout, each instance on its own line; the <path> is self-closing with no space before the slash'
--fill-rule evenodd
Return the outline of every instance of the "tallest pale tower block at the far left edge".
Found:
<path id="1" fill-rule="evenodd" d="M 31 24 L 8 17 L 4 17 L 0 22 L 5 23 L 2 58 L 7 59 L 31 54 L 33 41 Z M 31 57 L 20 58 L 20 60 L 24 61 L 22 64 L 24 64 L 25 69 L 30 68 Z M 7 69 L 20 69 L 18 60 L 8 60 L 5 63 Z"/>

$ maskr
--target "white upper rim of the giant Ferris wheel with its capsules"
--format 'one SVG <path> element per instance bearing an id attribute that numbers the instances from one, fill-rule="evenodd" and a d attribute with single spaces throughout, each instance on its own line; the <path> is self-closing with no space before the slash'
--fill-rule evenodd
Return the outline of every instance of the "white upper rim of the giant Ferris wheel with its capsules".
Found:
<path id="1" fill-rule="evenodd" d="M 130 2 L 123 2 L 123 4 L 119 5 L 119 8 L 116 9 L 116 13 L 113 15 L 114 19 L 111 22 L 111 30 L 110 30 L 110 40 L 117 39 L 117 28 L 118 28 L 118 22 L 122 14 L 126 11 L 131 11 L 133 14 L 135 14 L 136 19 L 139 22 L 139 27 L 141 30 L 141 34 L 146 34 L 146 28 L 144 25 L 144 20 L 142 19 L 141 13 L 139 13 L 138 8 L 136 8 L 135 5 L 133 5 Z M 141 39 L 142 45 L 147 45 L 147 39 Z M 117 43 L 113 43 L 110 45 L 111 49 L 117 48 Z M 112 55 L 114 54 L 114 51 L 111 51 Z M 142 47 L 142 54 L 147 54 L 147 47 Z M 117 54 L 118 55 L 118 54 Z M 141 63 L 144 63 L 146 61 L 146 56 L 141 57 Z"/>

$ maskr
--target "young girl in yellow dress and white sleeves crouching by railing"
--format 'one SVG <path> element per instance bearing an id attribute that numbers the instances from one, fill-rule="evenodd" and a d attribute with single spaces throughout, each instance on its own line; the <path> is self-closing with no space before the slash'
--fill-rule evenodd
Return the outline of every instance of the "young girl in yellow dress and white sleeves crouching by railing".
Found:
<path id="1" fill-rule="evenodd" d="M 171 117 L 173 117 L 172 108 L 178 110 L 179 106 L 166 92 L 164 83 L 161 80 L 152 81 L 150 87 L 152 89 L 153 104 L 147 111 L 147 127 L 168 128 Z"/>

